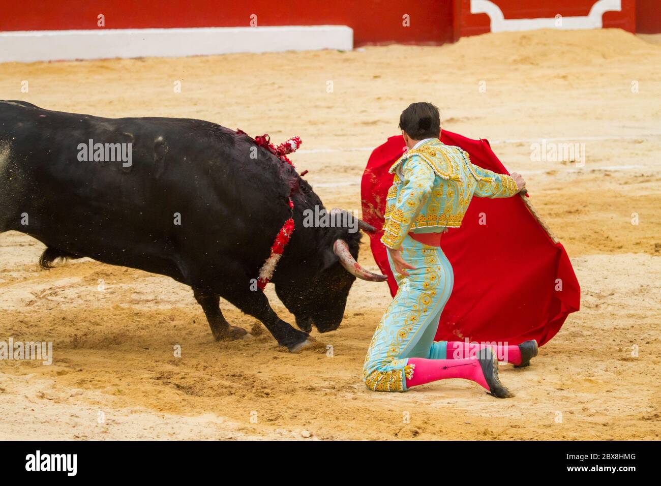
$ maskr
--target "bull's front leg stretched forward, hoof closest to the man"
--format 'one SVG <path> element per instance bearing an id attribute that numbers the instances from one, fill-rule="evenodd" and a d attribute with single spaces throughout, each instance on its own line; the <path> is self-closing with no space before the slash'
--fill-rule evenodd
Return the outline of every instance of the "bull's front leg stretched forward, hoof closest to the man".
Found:
<path id="1" fill-rule="evenodd" d="M 278 317 L 263 292 L 226 288 L 221 296 L 241 311 L 259 319 L 280 346 L 296 352 L 312 344 L 313 339 L 308 333 L 294 329 Z"/>

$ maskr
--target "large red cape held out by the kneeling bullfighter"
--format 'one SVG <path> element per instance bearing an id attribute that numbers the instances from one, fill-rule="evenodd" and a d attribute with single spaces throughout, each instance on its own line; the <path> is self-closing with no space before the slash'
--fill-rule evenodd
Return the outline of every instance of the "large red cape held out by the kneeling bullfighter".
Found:
<path id="1" fill-rule="evenodd" d="M 443 130 L 441 141 L 461 147 L 471 162 L 509 174 L 486 140 L 471 140 Z M 374 260 L 397 284 L 381 243 L 381 227 L 393 175 L 388 169 L 403 153 L 395 136 L 371 153 L 361 184 L 363 219 L 378 231 L 369 235 Z M 479 224 L 486 218 L 486 224 Z M 463 223 L 450 229 L 442 248 L 454 269 L 454 288 L 441 315 L 437 340 L 507 341 L 537 339 L 541 346 L 578 311 L 580 287 L 563 245 L 553 243 L 519 196 L 473 198 Z M 557 290 L 561 288 L 561 290 Z"/>

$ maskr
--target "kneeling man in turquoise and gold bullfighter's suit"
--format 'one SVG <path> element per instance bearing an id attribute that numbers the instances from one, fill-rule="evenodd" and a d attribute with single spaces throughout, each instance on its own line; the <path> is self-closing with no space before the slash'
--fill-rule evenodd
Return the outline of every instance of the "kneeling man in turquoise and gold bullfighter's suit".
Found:
<path id="1" fill-rule="evenodd" d="M 498 379 L 491 346 L 467 357 L 461 342 L 434 342 L 440 315 L 453 286 L 452 267 L 440 241 L 459 227 L 473 196 L 507 198 L 525 187 L 524 179 L 473 165 L 469 155 L 440 142 L 440 114 L 431 103 L 413 103 L 399 118 L 408 151 L 393 164 L 381 241 L 399 289 L 377 326 L 364 364 L 364 381 L 375 391 L 446 378 L 472 380 L 499 398 L 512 396 Z M 475 255 L 476 259 L 480 255 Z M 527 366 L 537 343 L 503 346 L 515 366 Z"/>

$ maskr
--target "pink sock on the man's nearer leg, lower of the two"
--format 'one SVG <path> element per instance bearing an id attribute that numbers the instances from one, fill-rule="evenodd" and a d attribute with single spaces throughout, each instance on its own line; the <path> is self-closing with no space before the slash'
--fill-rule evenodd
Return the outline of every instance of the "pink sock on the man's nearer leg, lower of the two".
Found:
<path id="1" fill-rule="evenodd" d="M 408 364 L 414 365 L 413 376 L 407 378 L 407 388 L 424 385 L 448 378 L 463 378 L 471 380 L 489 389 L 486 384 L 482 366 L 477 359 L 467 360 L 426 360 L 424 358 L 408 358 Z"/>

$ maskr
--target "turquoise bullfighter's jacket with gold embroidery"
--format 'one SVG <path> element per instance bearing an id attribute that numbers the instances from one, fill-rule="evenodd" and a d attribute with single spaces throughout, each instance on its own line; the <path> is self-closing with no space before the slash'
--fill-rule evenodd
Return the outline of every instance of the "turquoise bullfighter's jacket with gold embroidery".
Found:
<path id="1" fill-rule="evenodd" d="M 381 242 L 399 249 L 409 231 L 459 227 L 473 195 L 506 198 L 518 191 L 508 175 L 471 163 L 468 153 L 440 140 L 411 149 L 393 164 L 395 174 L 385 204 Z"/>

